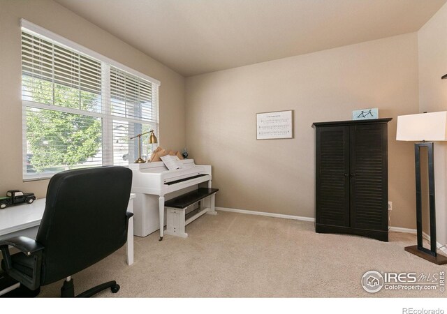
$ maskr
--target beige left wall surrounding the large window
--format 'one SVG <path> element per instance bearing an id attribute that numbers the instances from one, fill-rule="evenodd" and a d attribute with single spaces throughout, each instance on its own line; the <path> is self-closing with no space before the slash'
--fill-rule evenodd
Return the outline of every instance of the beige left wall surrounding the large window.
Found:
<path id="1" fill-rule="evenodd" d="M 162 147 L 185 143 L 184 77 L 122 40 L 50 0 L 0 1 L 0 195 L 19 188 L 44 197 L 47 180 L 22 182 L 22 102 L 20 18 L 38 24 L 105 57 L 161 81 L 159 90 Z M 148 38 L 147 40 L 150 40 Z"/>

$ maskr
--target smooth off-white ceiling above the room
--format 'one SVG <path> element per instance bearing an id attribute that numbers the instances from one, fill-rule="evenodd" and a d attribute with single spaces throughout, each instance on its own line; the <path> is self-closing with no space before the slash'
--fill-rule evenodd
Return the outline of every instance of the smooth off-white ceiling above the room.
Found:
<path id="1" fill-rule="evenodd" d="M 447 0 L 55 0 L 185 77 L 417 31 Z"/>

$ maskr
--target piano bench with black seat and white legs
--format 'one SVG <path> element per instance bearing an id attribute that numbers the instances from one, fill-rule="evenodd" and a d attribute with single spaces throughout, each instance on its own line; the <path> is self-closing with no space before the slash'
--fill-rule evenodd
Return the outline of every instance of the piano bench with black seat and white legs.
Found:
<path id="1" fill-rule="evenodd" d="M 192 192 L 177 196 L 165 202 L 166 207 L 166 234 L 186 238 L 184 232 L 186 225 L 196 220 L 203 214 L 217 214 L 214 210 L 214 195 L 218 188 L 198 188 Z M 205 202 L 205 208 L 203 203 Z M 198 203 L 198 209 L 186 214 L 186 209 Z"/>

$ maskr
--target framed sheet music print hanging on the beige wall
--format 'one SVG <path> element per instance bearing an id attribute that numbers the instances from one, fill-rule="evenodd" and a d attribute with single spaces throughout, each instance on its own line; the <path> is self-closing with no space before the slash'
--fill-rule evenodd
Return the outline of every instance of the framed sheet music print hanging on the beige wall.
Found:
<path id="1" fill-rule="evenodd" d="M 256 114 L 256 140 L 293 138 L 292 110 Z"/>

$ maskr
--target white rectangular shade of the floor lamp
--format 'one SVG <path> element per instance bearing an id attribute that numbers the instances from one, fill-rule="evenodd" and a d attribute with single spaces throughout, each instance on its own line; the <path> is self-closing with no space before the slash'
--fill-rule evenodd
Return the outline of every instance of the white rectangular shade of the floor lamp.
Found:
<path id="1" fill-rule="evenodd" d="M 398 116 L 396 140 L 447 140 L 447 111 Z"/>

